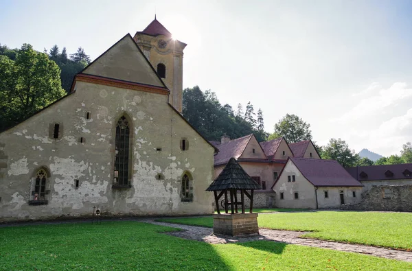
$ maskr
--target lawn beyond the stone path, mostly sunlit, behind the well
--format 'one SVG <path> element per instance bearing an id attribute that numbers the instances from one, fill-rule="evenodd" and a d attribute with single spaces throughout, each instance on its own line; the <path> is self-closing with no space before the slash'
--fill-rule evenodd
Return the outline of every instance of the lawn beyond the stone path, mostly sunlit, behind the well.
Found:
<path id="1" fill-rule="evenodd" d="M 213 218 L 161 220 L 213 226 Z M 412 213 L 317 211 L 259 215 L 260 228 L 312 231 L 304 237 L 412 250 Z"/>

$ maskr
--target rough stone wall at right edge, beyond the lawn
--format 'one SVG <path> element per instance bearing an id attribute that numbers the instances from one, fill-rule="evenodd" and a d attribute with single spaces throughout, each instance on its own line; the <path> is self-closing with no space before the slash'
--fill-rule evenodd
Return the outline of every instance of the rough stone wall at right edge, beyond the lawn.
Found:
<path id="1" fill-rule="evenodd" d="M 343 210 L 412 212 L 412 185 L 379 185 L 362 193 L 361 202 L 345 204 Z"/>

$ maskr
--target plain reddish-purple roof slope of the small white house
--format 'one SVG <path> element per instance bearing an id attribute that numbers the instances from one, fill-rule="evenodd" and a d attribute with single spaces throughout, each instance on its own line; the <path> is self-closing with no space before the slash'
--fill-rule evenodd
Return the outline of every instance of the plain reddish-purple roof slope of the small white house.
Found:
<path id="1" fill-rule="evenodd" d="M 361 182 L 353 178 L 334 160 L 290 158 L 290 161 L 315 187 L 363 187 Z"/>

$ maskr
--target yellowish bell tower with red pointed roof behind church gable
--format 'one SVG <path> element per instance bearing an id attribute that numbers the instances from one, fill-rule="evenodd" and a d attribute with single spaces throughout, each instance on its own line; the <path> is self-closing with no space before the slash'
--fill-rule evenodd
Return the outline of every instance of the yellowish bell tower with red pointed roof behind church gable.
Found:
<path id="1" fill-rule="evenodd" d="M 157 21 L 152 21 L 133 39 L 139 45 L 157 74 L 170 90 L 169 103 L 182 113 L 183 103 L 183 49 L 186 44 L 172 38 L 172 34 Z"/>

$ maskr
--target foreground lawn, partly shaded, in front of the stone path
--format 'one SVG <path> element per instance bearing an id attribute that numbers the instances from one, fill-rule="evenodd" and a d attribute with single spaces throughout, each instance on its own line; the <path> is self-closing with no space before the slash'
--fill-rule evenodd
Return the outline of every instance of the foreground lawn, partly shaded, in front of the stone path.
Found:
<path id="1" fill-rule="evenodd" d="M 412 264 L 272 241 L 211 245 L 139 222 L 0 228 L 0 270 L 411 270 Z"/>

